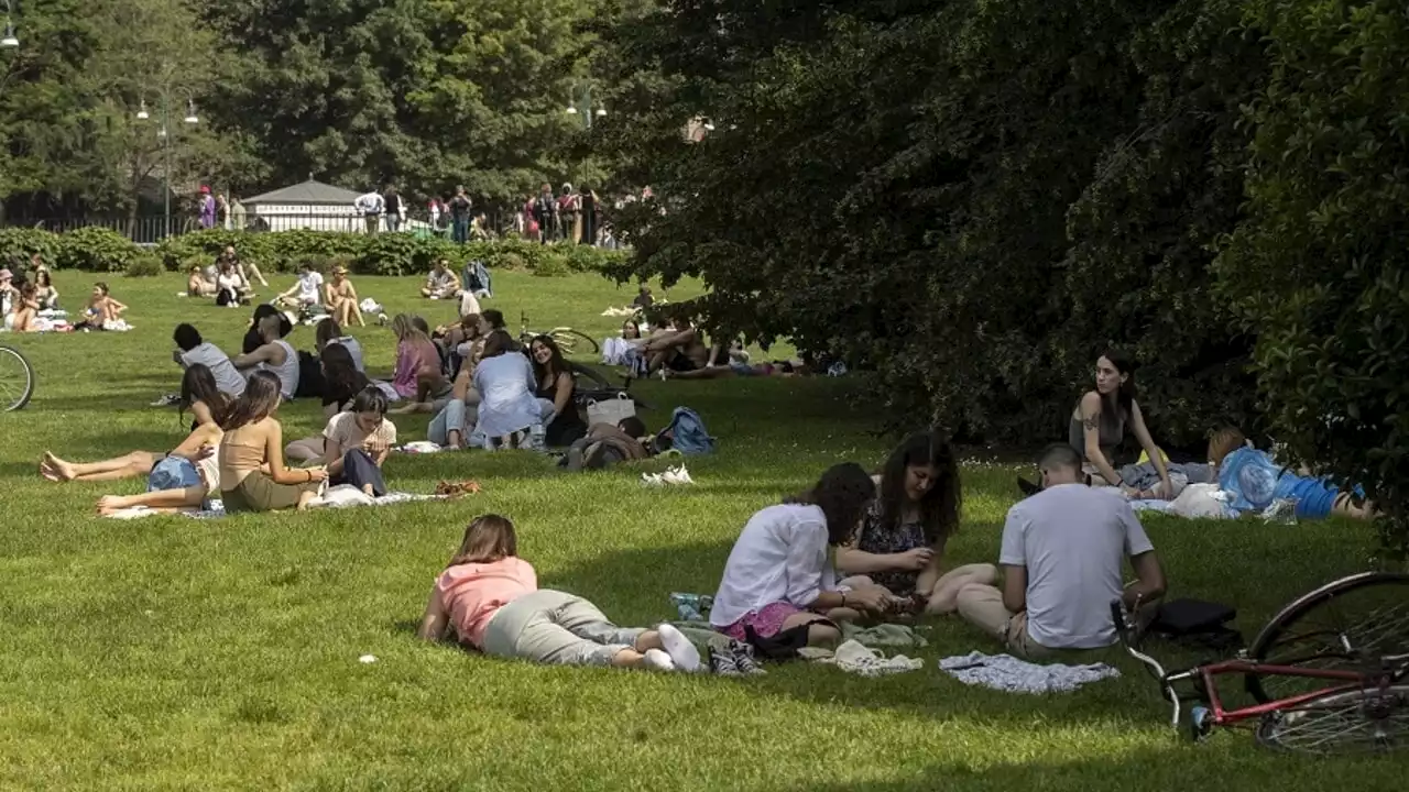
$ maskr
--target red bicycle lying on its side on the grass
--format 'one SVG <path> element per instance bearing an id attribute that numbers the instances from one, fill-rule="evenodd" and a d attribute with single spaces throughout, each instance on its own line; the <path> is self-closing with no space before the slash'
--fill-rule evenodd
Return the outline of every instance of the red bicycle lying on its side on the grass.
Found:
<path id="1" fill-rule="evenodd" d="M 1262 745 L 1310 754 L 1385 753 L 1409 747 L 1409 575 L 1363 572 L 1298 598 L 1234 660 L 1165 672 L 1140 650 L 1120 600 L 1116 631 L 1158 679 L 1181 727 L 1195 741 L 1216 727 L 1255 723 Z M 1241 675 L 1257 702 L 1229 709 L 1217 678 Z M 1192 692 L 1175 685 L 1188 683 Z"/>

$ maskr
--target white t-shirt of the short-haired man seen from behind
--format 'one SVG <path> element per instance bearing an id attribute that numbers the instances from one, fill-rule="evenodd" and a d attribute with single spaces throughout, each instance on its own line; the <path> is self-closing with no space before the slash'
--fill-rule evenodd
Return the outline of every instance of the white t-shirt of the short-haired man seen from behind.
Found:
<path id="1" fill-rule="evenodd" d="M 1007 510 L 998 562 L 1027 568 L 1027 634 L 1047 648 L 1116 643 L 1124 561 L 1154 545 L 1113 486 L 1057 485 Z"/>

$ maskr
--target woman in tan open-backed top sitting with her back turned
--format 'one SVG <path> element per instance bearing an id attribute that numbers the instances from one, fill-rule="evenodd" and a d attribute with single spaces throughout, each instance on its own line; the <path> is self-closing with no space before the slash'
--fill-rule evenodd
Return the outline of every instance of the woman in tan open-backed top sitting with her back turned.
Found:
<path id="1" fill-rule="evenodd" d="M 279 378 L 256 371 L 220 424 L 225 430 L 217 454 L 225 512 L 303 510 L 328 478 L 324 468 L 285 468 L 283 427 L 273 419 L 280 400 Z"/>

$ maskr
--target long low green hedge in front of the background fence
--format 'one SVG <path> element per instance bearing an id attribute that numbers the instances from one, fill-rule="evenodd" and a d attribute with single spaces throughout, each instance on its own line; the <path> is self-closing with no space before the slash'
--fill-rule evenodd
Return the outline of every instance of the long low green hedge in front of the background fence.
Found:
<path id="1" fill-rule="evenodd" d="M 210 230 L 170 237 L 152 251 L 144 251 L 117 231 L 77 228 L 55 234 L 38 228 L 0 228 L 0 264 L 14 266 L 39 254 L 58 269 L 87 272 L 151 271 L 144 259 L 155 256 L 168 271 L 209 264 L 225 245 L 240 256 L 258 264 L 265 272 L 293 272 L 300 264 L 325 269 L 342 262 L 358 275 L 410 275 L 426 272 L 438 258 L 458 268 L 466 261 L 482 261 L 490 269 L 542 271 L 545 275 L 568 272 L 609 272 L 620 268 L 624 254 L 578 245 L 537 245 L 520 240 L 469 242 L 457 245 L 441 238 L 410 234 L 341 234 L 335 231 L 225 231 Z M 134 268 L 135 265 L 135 268 Z"/>

